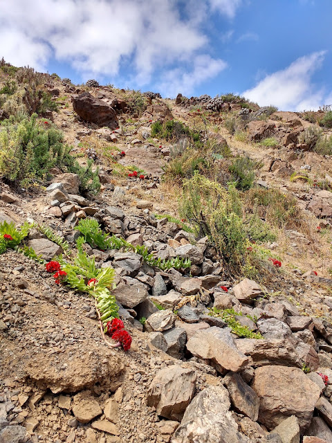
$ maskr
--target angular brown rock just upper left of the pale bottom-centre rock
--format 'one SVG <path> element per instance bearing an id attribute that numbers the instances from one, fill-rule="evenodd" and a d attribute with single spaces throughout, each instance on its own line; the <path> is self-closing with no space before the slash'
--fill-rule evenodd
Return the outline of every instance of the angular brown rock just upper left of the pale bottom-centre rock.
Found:
<path id="1" fill-rule="evenodd" d="M 172 365 L 160 370 L 147 392 L 147 405 L 154 406 L 162 417 L 180 421 L 194 397 L 196 372 Z"/>

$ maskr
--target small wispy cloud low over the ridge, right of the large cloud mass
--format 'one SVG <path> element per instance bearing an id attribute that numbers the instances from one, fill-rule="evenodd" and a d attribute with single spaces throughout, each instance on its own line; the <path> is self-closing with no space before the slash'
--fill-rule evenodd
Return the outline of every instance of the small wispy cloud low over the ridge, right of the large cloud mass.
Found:
<path id="1" fill-rule="evenodd" d="M 194 87 L 218 75 L 227 64 L 210 55 L 199 55 L 192 61 L 193 69 L 187 72 L 181 68 L 167 72 L 158 87 L 164 96 L 175 97 L 179 92 L 190 95 Z"/>

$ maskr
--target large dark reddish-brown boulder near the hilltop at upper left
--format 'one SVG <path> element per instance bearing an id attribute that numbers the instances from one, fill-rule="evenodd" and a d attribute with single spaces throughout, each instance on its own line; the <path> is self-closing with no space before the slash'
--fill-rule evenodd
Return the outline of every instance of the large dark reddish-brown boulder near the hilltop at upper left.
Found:
<path id="1" fill-rule="evenodd" d="M 73 96 L 73 109 L 82 120 L 111 129 L 118 127 L 116 111 L 103 100 L 91 96 L 89 92 Z"/>

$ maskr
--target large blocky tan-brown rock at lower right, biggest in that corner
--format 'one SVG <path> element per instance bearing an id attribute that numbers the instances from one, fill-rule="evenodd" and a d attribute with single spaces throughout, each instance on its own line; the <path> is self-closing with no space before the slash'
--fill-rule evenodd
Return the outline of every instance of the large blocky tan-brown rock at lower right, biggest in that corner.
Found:
<path id="1" fill-rule="evenodd" d="M 273 389 L 271 389 L 273 387 Z M 259 422 L 268 429 L 275 428 L 283 419 L 295 415 L 302 431 L 313 417 L 320 398 L 320 388 L 299 368 L 264 366 L 255 370 L 252 384 L 261 399 Z"/>

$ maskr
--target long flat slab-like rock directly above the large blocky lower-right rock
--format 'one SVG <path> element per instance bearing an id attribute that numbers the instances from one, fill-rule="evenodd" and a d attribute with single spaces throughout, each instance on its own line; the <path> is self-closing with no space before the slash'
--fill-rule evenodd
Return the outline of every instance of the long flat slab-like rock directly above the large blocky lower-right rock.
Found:
<path id="1" fill-rule="evenodd" d="M 240 338 L 235 343 L 243 354 L 252 358 L 255 366 L 283 365 L 302 368 L 302 362 L 289 340 Z"/>

